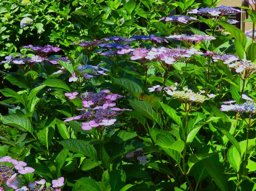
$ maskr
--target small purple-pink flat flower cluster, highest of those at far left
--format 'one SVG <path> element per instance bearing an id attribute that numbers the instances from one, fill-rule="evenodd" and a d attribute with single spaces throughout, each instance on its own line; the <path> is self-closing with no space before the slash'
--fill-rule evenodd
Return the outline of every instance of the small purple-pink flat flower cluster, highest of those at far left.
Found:
<path id="1" fill-rule="evenodd" d="M 38 55 L 40 55 L 42 57 L 45 57 L 46 55 L 48 55 L 51 52 L 58 52 L 58 51 L 61 50 L 59 47 L 53 47 L 49 44 L 45 45 L 44 47 L 42 47 L 42 46 L 33 46 L 33 45 L 30 44 L 30 45 L 24 46 L 22 48 L 26 48 L 29 51 L 33 51 L 33 52 L 37 53 Z"/>

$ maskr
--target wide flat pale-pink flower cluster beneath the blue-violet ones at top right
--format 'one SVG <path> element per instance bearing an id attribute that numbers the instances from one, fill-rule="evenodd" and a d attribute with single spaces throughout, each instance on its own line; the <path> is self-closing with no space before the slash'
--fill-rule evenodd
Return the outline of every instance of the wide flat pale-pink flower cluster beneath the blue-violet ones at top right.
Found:
<path id="1" fill-rule="evenodd" d="M 210 36 L 210 35 L 171 35 L 171 36 L 167 36 L 166 38 L 173 38 L 176 40 L 184 41 L 184 43 L 187 46 L 191 45 L 192 43 L 196 45 L 199 42 L 216 39 L 214 36 Z"/>

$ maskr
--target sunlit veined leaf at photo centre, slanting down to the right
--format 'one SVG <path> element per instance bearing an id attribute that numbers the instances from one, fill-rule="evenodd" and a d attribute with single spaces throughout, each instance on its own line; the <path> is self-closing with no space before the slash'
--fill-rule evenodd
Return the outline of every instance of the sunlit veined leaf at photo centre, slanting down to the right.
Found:
<path id="1" fill-rule="evenodd" d="M 148 102 L 145 102 L 143 100 L 129 100 L 129 102 L 132 108 L 134 108 L 137 112 L 141 113 L 148 119 L 158 123 L 160 126 L 162 125 L 160 115 L 153 110 L 152 106 L 150 106 Z"/>

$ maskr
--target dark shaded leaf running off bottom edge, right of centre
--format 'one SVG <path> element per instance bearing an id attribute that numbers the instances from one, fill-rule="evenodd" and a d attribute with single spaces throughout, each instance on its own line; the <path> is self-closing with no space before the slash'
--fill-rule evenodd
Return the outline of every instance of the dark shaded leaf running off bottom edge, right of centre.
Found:
<path id="1" fill-rule="evenodd" d="M 219 166 L 216 166 L 215 163 L 213 163 L 211 158 L 207 158 L 202 160 L 202 163 L 208 173 L 210 174 L 211 178 L 217 184 L 217 186 L 222 190 L 222 191 L 227 191 L 228 190 L 228 180 L 226 176 L 224 176 L 224 169 L 221 169 Z"/>

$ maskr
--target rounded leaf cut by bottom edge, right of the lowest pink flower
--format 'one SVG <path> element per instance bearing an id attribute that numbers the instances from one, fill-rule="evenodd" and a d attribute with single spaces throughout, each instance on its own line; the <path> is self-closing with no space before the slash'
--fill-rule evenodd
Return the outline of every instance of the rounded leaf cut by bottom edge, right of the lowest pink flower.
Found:
<path id="1" fill-rule="evenodd" d="M 101 191 L 100 187 L 92 178 L 80 178 L 74 184 L 72 191 Z"/>

